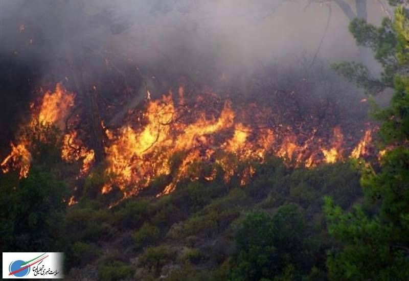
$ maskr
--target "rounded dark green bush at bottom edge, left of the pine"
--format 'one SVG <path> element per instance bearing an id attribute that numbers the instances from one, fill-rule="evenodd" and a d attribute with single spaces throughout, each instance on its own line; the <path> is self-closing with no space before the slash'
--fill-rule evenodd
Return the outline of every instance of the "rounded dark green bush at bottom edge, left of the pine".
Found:
<path id="1" fill-rule="evenodd" d="M 308 272 L 309 245 L 301 209 L 285 204 L 274 216 L 247 214 L 236 233 L 238 254 L 232 260 L 232 280 L 261 280 Z"/>

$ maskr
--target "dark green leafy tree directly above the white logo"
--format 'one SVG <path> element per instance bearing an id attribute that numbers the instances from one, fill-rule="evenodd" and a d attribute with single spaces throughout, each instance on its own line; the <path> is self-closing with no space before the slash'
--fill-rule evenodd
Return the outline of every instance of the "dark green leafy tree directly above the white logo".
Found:
<path id="1" fill-rule="evenodd" d="M 10 179 L 10 178 L 9 178 Z M 32 167 L 27 178 L 0 184 L 3 206 L 0 226 L 4 251 L 39 251 L 58 247 L 60 223 L 69 195 L 54 173 Z M 6 183 L 6 184 L 3 184 Z"/>

